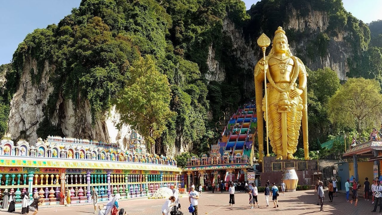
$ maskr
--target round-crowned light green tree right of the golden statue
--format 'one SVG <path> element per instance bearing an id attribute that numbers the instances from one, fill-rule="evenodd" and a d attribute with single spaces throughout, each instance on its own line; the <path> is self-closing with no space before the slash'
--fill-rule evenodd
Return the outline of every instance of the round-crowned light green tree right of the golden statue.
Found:
<path id="1" fill-rule="evenodd" d="M 377 80 L 349 78 L 329 100 L 329 118 L 337 128 L 362 129 L 379 121 L 382 94 Z M 361 138 L 361 135 L 359 135 Z"/>

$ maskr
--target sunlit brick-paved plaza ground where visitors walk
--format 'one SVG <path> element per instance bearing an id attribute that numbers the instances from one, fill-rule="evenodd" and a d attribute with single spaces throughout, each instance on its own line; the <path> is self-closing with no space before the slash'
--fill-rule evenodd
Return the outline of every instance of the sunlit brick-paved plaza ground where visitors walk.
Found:
<path id="1" fill-rule="evenodd" d="M 354 204 L 346 202 L 345 195 L 338 194 L 338 197 L 334 197 L 333 202 L 329 202 L 329 195 L 325 191 L 324 211 L 320 212 L 320 206 L 317 204 L 317 196 L 314 191 L 297 191 L 288 192 L 285 196 L 279 196 L 279 207 L 273 208 L 273 202 L 269 202 L 269 207 L 265 207 L 264 194 L 259 194 L 258 200 L 260 208 L 250 208 L 248 204 L 248 194 L 236 193 L 235 205 L 230 207 L 228 205 L 229 194 L 211 192 L 203 192 L 199 199 L 198 212 L 199 215 L 307 215 L 310 213 L 323 214 L 323 215 L 365 215 L 374 214 L 380 215 L 381 213 L 371 213 L 373 209 L 371 201 L 364 201 L 359 199 L 358 206 L 354 207 Z M 270 197 L 272 199 L 272 197 Z M 121 208 L 125 208 L 129 215 L 161 215 L 161 208 L 164 199 L 135 199 L 120 201 Z M 188 197 L 185 196 L 180 199 L 182 205 L 182 211 L 185 215 L 188 213 Z M 379 209 L 379 208 L 378 208 Z M 379 211 L 377 209 L 377 211 Z M 70 207 L 46 207 L 40 208 L 38 215 L 91 215 L 94 211 L 93 205 L 71 205 Z M 16 214 L 21 214 L 21 209 L 16 209 Z M 0 215 L 9 215 L 9 213 L 0 211 Z M 30 212 L 29 215 L 32 215 Z"/>

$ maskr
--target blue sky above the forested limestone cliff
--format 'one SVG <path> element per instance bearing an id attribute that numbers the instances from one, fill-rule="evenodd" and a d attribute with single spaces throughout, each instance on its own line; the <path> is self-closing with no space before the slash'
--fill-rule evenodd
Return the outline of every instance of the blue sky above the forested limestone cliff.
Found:
<path id="1" fill-rule="evenodd" d="M 36 28 L 58 23 L 81 0 L 0 0 L 0 64 L 9 63 L 18 44 Z M 247 9 L 257 0 L 244 0 Z M 382 20 L 382 0 L 343 0 L 347 11 L 366 23 Z"/>

